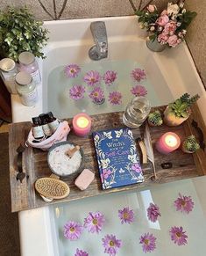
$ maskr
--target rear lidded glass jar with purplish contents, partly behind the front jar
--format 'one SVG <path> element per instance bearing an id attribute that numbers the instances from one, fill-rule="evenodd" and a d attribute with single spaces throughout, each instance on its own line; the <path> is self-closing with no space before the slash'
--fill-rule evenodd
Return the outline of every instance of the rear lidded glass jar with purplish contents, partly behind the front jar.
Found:
<path id="1" fill-rule="evenodd" d="M 40 84 L 40 72 L 39 65 L 35 59 L 35 56 L 30 52 L 23 52 L 18 56 L 18 69 L 19 71 L 26 71 L 31 74 L 33 84 Z"/>

